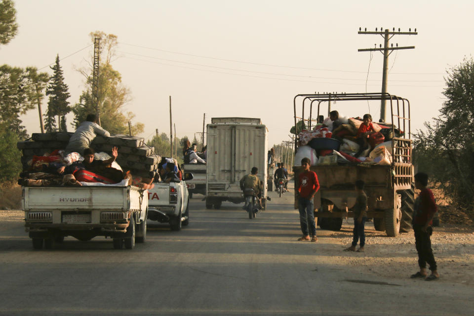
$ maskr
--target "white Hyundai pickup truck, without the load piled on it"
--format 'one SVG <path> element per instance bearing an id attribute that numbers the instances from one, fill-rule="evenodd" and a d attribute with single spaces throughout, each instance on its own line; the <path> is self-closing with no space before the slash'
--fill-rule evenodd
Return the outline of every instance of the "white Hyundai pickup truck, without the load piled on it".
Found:
<path id="1" fill-rule="evenodd" d="M 72 236 L 112 237 L 115 249 L 135 247 L 147 233 L 148 195 L 133 186 L 23 187 L 25 228 L 33 248 Z"/>

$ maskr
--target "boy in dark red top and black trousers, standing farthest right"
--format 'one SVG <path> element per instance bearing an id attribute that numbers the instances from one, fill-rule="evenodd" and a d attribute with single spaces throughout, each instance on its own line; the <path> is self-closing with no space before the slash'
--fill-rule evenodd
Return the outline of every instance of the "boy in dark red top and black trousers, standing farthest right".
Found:
<path id="1" fill-rule="evenodd" d="M 415 246 L 418 252 L 418 265 L 420 271 L 411 275 L 411 278 L 425 278 L 427 281 L 439 278 L 436 270 L 435 256 L 431 248 L 431 235 L 433 234 L 433 217 L 437 211 L 433 192 L 427 188 L 428 175 L 423 172 L 415 174 L 415 188 L 421 190 L 415 200 L 413 212 L 413 232 L 415 233 Z M 431 275 L 427 276 L 426 264 L 430 265 Z"/>

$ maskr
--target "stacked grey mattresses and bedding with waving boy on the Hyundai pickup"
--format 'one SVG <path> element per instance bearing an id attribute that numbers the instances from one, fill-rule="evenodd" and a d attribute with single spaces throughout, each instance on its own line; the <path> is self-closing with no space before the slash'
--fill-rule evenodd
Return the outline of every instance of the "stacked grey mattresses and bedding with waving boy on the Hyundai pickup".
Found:
<path id="1" fill-rule="evenodd" d="M 151 189 L 161 158 L 140 137 L 97 136 L 84 151 L 66 152 L 72 133 L 34 133 L 18 142 L 22 186 L 134 185 Z M 111 157 L 109 154 L 112 154 Z M 85 159 L 84 159 L 85 158 Z"/>

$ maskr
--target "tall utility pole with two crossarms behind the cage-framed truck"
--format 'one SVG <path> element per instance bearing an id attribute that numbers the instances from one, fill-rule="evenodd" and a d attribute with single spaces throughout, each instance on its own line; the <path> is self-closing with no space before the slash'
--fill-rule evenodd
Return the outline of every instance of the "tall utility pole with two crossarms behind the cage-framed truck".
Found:
<path id="1" fill-rule="evenodd" d="M 411 29 L 408 29 L 408 32 L 400 32 L 400 29 L 398 29 L 398 32 L 395 32 L 395 28 L 393 28 L 393 32 L 390 32 L 389 29 L 386 29 L 385 31 L 382 31 L 382 28 L 380 28 L 380 31 L 375 28 L 375 32 L 367 31 L 367 28 L 365 28 L 364 31 L 362 31 L 362 28 L 359 28 L 359 32 L 357 34 L 371 34 L 371 35 L 380 35 L 384 38 L 384 48 L 382 48 L 382 44 L 379 45 L 379 48 L 377 48 L 377 44 L 375 44 L 374 48 L 362 48 L 358 49 L 357 51 L 380 51 L 381 53 L 384 54 L 384 68 L 383 68 L 383 75 L 382 75 L 382 93 L 387 93 L 387 76 L 389 73 L 389 55 L 394 51 L 398 49 L 413 49 L 415 46 L 404 46 L 404 47 L 398 47 L 398 43 L 396 44 L 396 47 L 394 47 L 394 44 L 392 44 L 391 47 L 389 47 L 389 40 L 394 37 L 394 35 L 418 35 L 416 32 L 411 32 Z M 390 51 L 390 52 L 389 52 Z M 385 104 L 386 104 L 385 99 L 382 99 L 380 101 L 380 119 L 385 122 Z"/>

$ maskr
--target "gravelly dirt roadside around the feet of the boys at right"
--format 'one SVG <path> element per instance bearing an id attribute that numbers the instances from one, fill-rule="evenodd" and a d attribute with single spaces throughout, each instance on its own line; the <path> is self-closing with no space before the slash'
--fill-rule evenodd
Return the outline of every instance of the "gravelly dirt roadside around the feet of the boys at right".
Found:
<path id="1" fill-rule="evenodd" d="M 371 223 L 367 223 L 365 252 L 344 252 L 344 248 L 352 242 L 352 228 L 353 224 L 344 223 L 340 232 L 321 231 L 322 234 L 319 235 L 321 241 L 324 237 L 332 237 L 334 239 L 331 243 L 341 243 L 341 253 L 332 253 L 337 265 L 353 266 L 359 272 L 394 278 L 408 277 L 418 271 L 418 256 L 412 232 L 387 237 L 385 233 L 375 231 Z M 439 281 L 473 285 L 474 227 L 442 225 L 435 228 L 431 240 L 441 276 Z M 321 250 L 329 251 L 330 248 Z"/>

